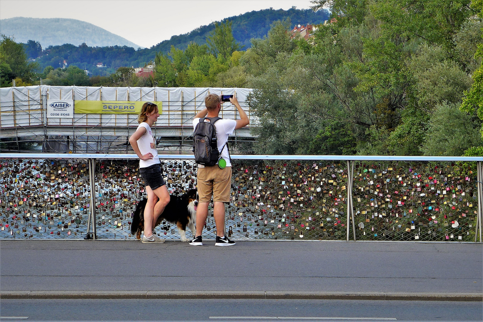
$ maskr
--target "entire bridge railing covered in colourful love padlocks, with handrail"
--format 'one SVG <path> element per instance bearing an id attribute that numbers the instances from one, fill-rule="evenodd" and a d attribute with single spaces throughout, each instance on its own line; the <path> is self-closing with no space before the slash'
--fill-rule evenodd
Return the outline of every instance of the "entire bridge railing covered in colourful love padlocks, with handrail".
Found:
<path id="1" fill-rule="evenodd" d="M 171 195 L 192 155 L 159 155 Z M 233 239 L 482 241 L 483 157 L 232 155 Z M 0 154 L 0 238 L 126 239 L 145 196 L 134 154 Z M 203 238 L 214 238 L 212 208 Z M 177 228 L 155 229 L 179 239 Z M 188 233 L 188 235 L 190 235 Z"/>

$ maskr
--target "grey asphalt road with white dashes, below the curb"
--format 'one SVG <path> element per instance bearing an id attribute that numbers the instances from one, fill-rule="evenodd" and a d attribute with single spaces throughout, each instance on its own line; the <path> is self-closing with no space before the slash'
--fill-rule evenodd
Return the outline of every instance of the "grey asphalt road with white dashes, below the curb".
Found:
<path id="1" fill-rule="evenodd" d="M 482 302 L 248 299 L 2 299 L 0 303 L 2 317 L 28 317 L 28 319 L 18 321 L 216 322 L 243 320 L 258 322 L 273 321 L 273 317 L 312 317 L 318 318 L 317 320 L 319 321 L 321 321 L 320 318 L 329 317 L 392 319 L 382 321 L 394 321 L 394 319 L 397 319 L 397 321 L 483 320 Z M 218 319 L 215 319 L 216 317 Z M 271 317 L 271 319 L 252 318 L 248 320 L 240 317 Z M 300 319 L 300 321 L 311 320 L 317 321 L 316 319 Z M 290 319 L 290 321 L 297 321 L 297 319 Z M 368 320 L 359 319 L 359 321 Z M 369 321 L 374 320 L 370 319 Z"/>

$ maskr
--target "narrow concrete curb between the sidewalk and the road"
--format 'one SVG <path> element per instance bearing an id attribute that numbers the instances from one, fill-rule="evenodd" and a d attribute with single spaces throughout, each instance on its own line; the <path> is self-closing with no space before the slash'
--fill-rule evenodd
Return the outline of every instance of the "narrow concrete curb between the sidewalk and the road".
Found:
<path id="1" fill-rule="evenodd" d="M 1 291 L 2 299 L 319 299 L 482 302 L 480 293 L 280 292 L 280 291 Z"/>

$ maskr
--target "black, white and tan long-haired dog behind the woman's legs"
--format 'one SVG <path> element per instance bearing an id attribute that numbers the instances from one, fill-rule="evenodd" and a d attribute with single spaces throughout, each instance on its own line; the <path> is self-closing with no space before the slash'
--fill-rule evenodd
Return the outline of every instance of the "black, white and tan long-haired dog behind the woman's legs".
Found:
<path id="1" fill-rule="evenodd" d="M 131 234 L 133 236 L 136 235 L 138 240 L 141 240 L 141 232 L 144 231 L 144 207 L 146 207 L 146 202 L 146 198 L 138 202 L 136 210 L 134 210 L 134 217 L 132 218 Z M 156 220 L 155 227 L 161 224 L 162 221 L 176 224 L 181 240 L 188 241 L 188 239 L 186 239 L 186 226 L 189 227 L 189 230 L 191 230 L 194 235 L 197 207 L 197 189 L 190 189 L 181 196 L 170 196 L 170 202 Z M 166 227 L 164 229 L 168 228 Z"/>

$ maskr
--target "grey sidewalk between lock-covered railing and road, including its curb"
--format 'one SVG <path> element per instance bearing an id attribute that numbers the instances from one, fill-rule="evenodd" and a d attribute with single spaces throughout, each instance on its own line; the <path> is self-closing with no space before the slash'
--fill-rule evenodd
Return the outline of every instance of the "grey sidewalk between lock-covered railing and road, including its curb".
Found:
<path id="1" fill-rule="evenodd" d="M 481 300 L 483 294 L 482 244 L 204 243 L 2 240 L 1 297 Z"/>

